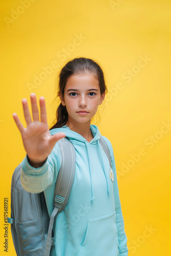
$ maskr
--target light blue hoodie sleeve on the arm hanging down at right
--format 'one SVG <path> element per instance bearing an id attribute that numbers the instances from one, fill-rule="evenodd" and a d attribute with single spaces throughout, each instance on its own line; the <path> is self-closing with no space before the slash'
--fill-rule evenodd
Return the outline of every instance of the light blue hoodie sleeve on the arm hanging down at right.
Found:
<path id="1" fill-rule="evenodd" d="M 103 136 L 102 136 L 103 137 Z M 108 144 L 110 154 L 111 154 L 111 160 L 112 160 L 112 169 L 114 172 L 114 199 L 115 199 L 115 211 L 116 211 L 116 227 L 118 230 L 118 242 L 119 242 L 119 256 L 127 256 L 128 254 L 128 248 L 127 248 L 127 238 L 124 230 L 124 220 L 121 210 L 121 203 L 119 198 L 119 188 L 118 188 L 118 182 L 117 182 L 117 174 L 116 174 L 116 164 L 115 164 L 115 158 L 113 153 L 113 147 L 109 139 L 106 137 L 103 137 L 105 139 L 105 142 Z"/>

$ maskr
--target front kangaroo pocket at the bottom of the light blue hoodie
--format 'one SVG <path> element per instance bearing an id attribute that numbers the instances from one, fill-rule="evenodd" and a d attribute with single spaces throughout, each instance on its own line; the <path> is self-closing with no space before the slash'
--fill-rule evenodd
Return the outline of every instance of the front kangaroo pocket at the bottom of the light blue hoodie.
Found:
<path id="1" fill-rule="evenodd" d="M 77 256 L 119 256 L 116 212 L 88 221 Z"/>

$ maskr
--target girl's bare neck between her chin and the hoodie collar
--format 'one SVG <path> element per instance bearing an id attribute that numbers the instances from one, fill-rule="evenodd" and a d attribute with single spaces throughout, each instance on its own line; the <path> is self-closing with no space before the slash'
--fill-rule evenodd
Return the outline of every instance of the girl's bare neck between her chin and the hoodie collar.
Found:
<path id="1" fill-rule="evenodd" d="M 71 131 L 80 134 L 88 142 L 90 142 L 93 139 L 93 134 L 90 130 L 90 122 L 79 124 L 67 122 L 66 125 L 70 128 Z"/>

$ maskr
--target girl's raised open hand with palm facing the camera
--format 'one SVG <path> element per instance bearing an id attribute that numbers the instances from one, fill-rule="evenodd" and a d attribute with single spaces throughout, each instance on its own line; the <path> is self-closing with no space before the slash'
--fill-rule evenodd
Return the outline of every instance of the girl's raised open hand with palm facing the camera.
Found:
<path id="1" fill-rule="evenodd" d="M 30 98 L 33 121 L 30 116 L 27 99 L 22 100 L 27 127 L 25 128 L 23 126 L 16 113 L 13 113 L 13 118 L 22 135 L 23 144 L 29 159 L 32 163 L 39 164 L 47 159 L 55 143 L 66 135 L 65 133 L 57 133 L 53 136 L 50 134 L 44 97 L 39 98 L 40 121 L 36 95 L 32 93 L 30 94 Z"/>

